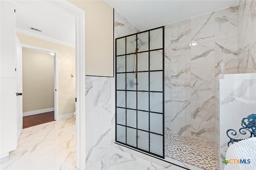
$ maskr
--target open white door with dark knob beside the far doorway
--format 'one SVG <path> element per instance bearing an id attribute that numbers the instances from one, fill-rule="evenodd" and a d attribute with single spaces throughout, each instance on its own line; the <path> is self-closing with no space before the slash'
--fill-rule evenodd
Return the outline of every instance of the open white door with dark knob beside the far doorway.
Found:
<path id="1" fill-rule="evenodd" d="M 16 36 L 16 80 L 17 80 L 17 141 L 23 127 L 23 99 L 22 99 L 22 45 Z"/>

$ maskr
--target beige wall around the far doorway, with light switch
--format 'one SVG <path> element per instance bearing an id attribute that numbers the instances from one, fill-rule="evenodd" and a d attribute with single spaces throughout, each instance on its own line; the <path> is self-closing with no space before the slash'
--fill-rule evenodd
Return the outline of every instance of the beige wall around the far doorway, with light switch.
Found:
<path id="1" fill-rule="evenodd" d="M 59 93 L 59 115 L 74 113 L 75 111 L 75 88 L 76 88 L 76 51 L 73 47 L 49 42 L 39 38 L 26 36 L 16 33 L 19 40 L 23 44 L 33 45 L 36 47 L 51 49 L 58 51 L 58 74 L 62 75 L 62 79 L 58 79 Z M 74 75 L 71 79 L 70 75 Z"/>

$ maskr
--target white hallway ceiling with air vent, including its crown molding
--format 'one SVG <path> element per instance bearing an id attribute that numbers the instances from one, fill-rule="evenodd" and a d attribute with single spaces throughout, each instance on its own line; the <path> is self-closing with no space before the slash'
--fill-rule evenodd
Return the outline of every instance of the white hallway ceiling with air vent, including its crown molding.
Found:
<path id="1" fill-rule="evenodd" d="M 16 32 L 75 46 L 75 17 L 71 14 L 42 0 L 18 0 L 15 9 Z"/>

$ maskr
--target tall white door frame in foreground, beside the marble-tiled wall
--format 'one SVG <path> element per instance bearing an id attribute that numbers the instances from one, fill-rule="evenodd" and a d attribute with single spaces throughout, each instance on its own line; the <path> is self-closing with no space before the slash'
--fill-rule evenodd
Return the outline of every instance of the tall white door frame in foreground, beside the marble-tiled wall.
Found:
<path id="1" fill-rule="evenodd" d="M 76 168 L 85 169 L 85 12 L 67 0 L 47 1 L 76 20 Z"/>

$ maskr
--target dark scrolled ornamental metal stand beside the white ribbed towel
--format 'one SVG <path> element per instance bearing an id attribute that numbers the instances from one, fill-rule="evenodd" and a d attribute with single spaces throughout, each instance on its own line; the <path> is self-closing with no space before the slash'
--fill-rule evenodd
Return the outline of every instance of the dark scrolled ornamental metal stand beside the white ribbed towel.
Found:
<path id="1" fill-rule="evenodd" d="M 256 114 L 252 114 L 252 115 L 249 115 L 248 117 L 243 118 L 241 125 L 242 125 L 242 128 L 239 129 L 240 134 L 246 135 L 248 132 L 250 136 L 246 138 L 251 138 L 252 136 L 256 137 Z M 229 135 L 229 132 L 232 135 L 232 137 Z M 246 139 L 246 138 L 242 138 L 242 139 L 234 138 L 237 135 L 237 132 L 234 129 L 228 129 L 226 134 L 230 138 L 230 141 L 228 142 L 228 146 L 230 145 L 230 143 L 234 144 L 234 142 L 239 142 L 240 140 Z"/>

